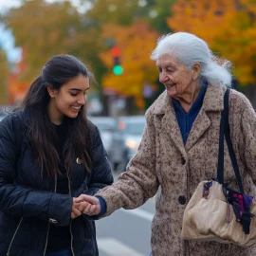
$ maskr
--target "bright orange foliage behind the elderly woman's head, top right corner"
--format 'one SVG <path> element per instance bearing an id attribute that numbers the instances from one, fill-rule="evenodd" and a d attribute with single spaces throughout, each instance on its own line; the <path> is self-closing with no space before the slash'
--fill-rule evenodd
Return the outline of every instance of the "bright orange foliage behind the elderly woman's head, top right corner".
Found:
<path id="1" fill-rule="evenodd" d="M 177 0 L 168 26 L 203 38 L 214 52 L 235 66 L 234 75 L 243 85 L 255 82 L 255 0 Z"/>

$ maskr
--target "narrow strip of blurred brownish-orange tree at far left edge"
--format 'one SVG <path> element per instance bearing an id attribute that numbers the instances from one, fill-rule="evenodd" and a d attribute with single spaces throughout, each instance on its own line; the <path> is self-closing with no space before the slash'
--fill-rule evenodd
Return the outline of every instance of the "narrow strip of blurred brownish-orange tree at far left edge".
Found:
<path id="1" fill-rule="evenodd" d="M 6 52 L 0 48 L 0 105 L 8 102 L 9 64 Z"/>

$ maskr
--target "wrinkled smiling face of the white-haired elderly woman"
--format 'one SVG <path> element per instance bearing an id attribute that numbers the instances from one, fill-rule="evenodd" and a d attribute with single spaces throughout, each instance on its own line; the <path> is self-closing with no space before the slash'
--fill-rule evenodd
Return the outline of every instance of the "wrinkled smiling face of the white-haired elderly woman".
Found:
<path id="1" fill-rule="evenodd" d="M 191 90 L 195 80 L 192 68 L 188 68 L 168 54 L 160 56 L 156 66 L 159 71 L 159 82 L 165 85 L 169 96 L 175 99 Z"/>

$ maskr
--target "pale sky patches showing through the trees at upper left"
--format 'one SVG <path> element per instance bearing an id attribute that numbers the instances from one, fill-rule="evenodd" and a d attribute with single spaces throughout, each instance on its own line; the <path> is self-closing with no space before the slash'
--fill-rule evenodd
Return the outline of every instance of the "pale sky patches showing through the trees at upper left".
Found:
<path id="1" fill-rule="evenodd" d="M 32 0 L 31 0 L 32 1 Z M 46 0 L 48 3 L 63 2 L 64 0 Z M 74 7 L 79 8 L 80 12 L 84 12 L 89 6 L 81 6 L 80 0 L 69 0 Z M 4 13 L 10 8 L 18 8 L 20 6 L 20 0 L 0 0 L 0 13 Z M 8 55 L 9 62 L 17 63 L 21 57 L 21 50 L 15 48 L 14 38 L 11 31 L 6 30 L 3 25 L 0 24 L 0 47 L 2 47 Z"/>

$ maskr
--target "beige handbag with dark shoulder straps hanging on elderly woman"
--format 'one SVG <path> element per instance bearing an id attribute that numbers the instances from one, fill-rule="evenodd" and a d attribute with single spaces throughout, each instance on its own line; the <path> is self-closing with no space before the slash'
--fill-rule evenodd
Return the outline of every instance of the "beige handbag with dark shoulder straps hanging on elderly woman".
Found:
<path id="1" fill-rule="evenodd" d="M 192 194 L 184 211 L 181 238 L 250 247 L 256 243 L 256 203 L 244 193 L 229 136 L 229 89 L 225 93 L 224 105 L 217 181 L 200 182 Z M 224 136 L 240 192 L 232 191 L 224 184 Z"/>

